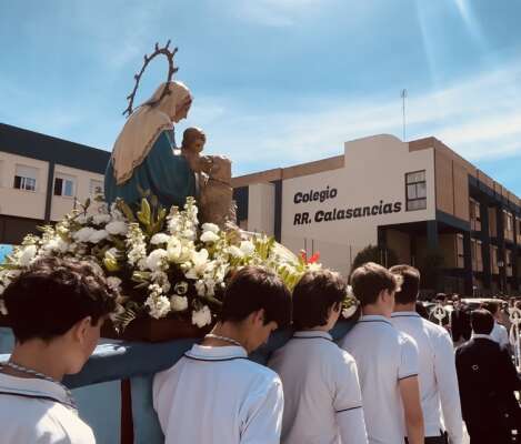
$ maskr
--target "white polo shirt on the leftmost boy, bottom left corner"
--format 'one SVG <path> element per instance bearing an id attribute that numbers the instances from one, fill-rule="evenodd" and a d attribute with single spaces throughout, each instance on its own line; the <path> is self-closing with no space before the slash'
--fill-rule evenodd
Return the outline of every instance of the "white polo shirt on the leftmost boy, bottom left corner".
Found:
<path id="1" fill-rule="evenodd" d="M 94 444 L 58 384 L 0 373 L 1 444 Z"/>

